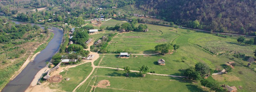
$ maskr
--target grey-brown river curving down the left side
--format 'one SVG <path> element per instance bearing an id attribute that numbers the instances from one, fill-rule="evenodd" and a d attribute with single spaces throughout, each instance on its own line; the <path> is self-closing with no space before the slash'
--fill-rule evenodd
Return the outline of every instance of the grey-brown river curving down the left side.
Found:
<path id="1" fill-rule="evenodd" d="M 33 24 L 33 23 L 26 23 L 26 22 L 15 22 L 16 24 L 31 24 L 31 25 L 38 25 L 41 28 L 42 25 L 40 24 Z M 31 84 L 32 80 L 36 73 L 39 72 L 43 67 L 46 66 L 46 62 L 49 61 L 56 52 L 59 51 L 60 44 L 63 37 L 63 31 L 57 27 L 49 26 L 50 30 L 53 30 L 54 33 L 53 39 L 48 43 L 47 47 L 39 53 L 33 62 L 29 62 L 29 64 L 21 71 L 21 73 L 16 76 L 12 81 L 10 81 L 2 92 L 24 92 L 29 85 Z"/>

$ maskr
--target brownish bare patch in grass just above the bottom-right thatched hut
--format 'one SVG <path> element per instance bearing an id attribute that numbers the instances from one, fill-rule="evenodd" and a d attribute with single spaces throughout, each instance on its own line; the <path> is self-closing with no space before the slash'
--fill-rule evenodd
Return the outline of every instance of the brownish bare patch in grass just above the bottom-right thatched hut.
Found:
<path id="1" fill-rule="evenodd" d="M 222 74 L 222 75 L 212 75 L 214 80 L 216 81 L 240 81 L 239 77 L 236 77 L 234 75 L 228 75 L 228 74 Z"/>

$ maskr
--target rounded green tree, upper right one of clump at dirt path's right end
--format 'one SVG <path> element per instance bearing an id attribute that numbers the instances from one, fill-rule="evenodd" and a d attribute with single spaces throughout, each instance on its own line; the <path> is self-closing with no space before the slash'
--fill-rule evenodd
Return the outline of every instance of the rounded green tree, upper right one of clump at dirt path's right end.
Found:
<path id="1" fill-rule="evenodd" d="M 195 65 L 195 70 L 201 73 L 201 76 L 204 76 L 206 74 L 210 74 L 210 67 L 202 62 L 198 62 Z"/>

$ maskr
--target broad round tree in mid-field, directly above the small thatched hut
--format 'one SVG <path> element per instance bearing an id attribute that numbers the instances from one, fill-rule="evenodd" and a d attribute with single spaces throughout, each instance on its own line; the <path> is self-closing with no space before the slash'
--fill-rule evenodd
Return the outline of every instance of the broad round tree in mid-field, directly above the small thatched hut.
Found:
<path id="1" fill-rule="evenodd" d="M 165 53 L 168 53 L 169 51 L 171 51 L 171 49 L 173 49 L 173 46 L 171 46 L 171 44 L 167 44 L 167 43 L 155 46 L 155 51 L 156 52 L 161 52 L 163 55 Z"/>

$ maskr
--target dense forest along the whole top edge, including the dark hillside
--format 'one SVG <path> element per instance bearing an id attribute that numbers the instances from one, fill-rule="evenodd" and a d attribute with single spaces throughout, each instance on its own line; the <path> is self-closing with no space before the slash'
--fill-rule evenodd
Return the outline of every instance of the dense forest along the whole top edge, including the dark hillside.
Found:
<path id="1" fill-rule="evenodd" d="M 92 19 L 105 15 L 105 18 L 111 18 L 119 14 L 112 7 L 125 6 L 135 6 L 135 10 L 143 11 L 144 15 L 157 16 L 184 27 L 255 35 L 255 0 L 3 0 L 0 12 L 6 15 L 18 13 L 17 19 L 32 22 L 53 19 L 46 22 L 79 25 L 77 17 Z M 23 13 L 13 10 L 42 7 L 47 10 Z M 131 16 L 132 14 L 124 13 L 118 17 L 127 19 Z"/>

